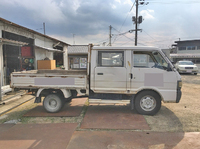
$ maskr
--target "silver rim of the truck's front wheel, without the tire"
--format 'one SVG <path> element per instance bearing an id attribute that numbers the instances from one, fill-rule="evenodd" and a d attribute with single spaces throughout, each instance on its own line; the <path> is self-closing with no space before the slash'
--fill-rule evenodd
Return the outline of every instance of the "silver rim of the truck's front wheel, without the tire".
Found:
<path id="1" fill-rule="evenodd" d="M 144 111 L 152 111 L 156 107 L 156 100 L 152 96 L 144 96 L 140 100 L 140 107 Z"/>

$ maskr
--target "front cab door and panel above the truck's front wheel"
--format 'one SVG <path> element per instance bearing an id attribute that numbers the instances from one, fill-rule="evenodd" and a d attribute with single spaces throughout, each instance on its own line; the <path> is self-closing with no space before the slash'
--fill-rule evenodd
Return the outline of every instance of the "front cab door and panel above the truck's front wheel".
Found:
<path id="1" fill-rule="evenodd" d="M 132 54 L 131 92 L 151 89 L 160 92 L 167 101 L 174 100 L 177 76 L 167 70 L 168 63 L 163 56 L 157 51 L 133 51 Z"/>

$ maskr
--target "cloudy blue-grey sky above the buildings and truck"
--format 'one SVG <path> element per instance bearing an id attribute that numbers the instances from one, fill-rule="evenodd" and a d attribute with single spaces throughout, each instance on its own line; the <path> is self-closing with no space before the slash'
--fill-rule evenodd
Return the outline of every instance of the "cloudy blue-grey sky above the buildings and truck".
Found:
<path id="1" fill-rule="evenodd" d="M 200 39 L 199 0 L 139 0 L 138 46 Z M 0 0 L 0 17 L 68 44 L 134 46 L 134 0 Z"/>

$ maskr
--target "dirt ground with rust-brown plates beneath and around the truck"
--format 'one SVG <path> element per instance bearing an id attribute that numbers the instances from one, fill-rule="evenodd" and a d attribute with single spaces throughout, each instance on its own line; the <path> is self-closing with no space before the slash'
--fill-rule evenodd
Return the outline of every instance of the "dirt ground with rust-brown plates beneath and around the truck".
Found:
<path id="1" fill-rule="evenodd" d="M 72 100 L 61 111 L 67 115 L 55 116 L 33 104 L 33 96 L 22 96 L 21 106 L 0 116 L 0 148 L 198 149 L 200 76 L 182 79 L 181 102 L 163 104 L 155 116 L 138 115 L 129 105 L 88 105 L 83 100 Z"/>

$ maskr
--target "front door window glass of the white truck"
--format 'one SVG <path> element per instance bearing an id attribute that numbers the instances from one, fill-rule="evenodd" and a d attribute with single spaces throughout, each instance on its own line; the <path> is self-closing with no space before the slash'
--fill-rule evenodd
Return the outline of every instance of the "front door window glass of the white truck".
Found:
<path id="1" fill-rule="evenodd" d="M 155 65 L 151 56 L 147 53 L 134 53 L 133 56 L 134 67 L 151 68 Z"/>

